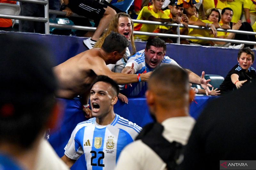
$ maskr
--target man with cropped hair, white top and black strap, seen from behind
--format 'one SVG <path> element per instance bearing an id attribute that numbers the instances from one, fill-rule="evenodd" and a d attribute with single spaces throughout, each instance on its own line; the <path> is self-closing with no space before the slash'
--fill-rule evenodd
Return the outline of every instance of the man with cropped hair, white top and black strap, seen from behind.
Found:
<path id="1" fill-rule="evenodd" d="M 136 141 L 124 148 L 116 169 L 176 167 L 178 153 L 187 143 L 195 123 L 188 116 L 194 92 L 189 88 L 187 72 L 171 64 L 157 68 L 149 78 L 146 98 L 157 123 L 145 126 Z"/>

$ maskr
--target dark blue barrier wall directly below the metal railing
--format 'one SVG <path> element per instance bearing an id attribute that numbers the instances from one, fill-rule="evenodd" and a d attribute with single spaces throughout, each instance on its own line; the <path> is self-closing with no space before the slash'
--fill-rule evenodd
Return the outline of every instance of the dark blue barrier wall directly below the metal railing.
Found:
<path id="1" fill-rule="evenodd" d="M 0 33 L 10 32 L 0 31 Z M 53 60 L 56 65 L 86 50 L 82 43 L 86 38 L 82 37 L 12 33 L 17 36 L 25 34 L 30 39 L 34 38 L 36 41 L 49 44 L 55 56 Z M 146 42 L 135 42 L 135 45 L 136 51 L 139 51 L 146 47 Z M 181 67 L 190 69 L 199 76 L 202 71 L 205 71 L 205 74 L 219 74 L 225 77 L 228 71 L 237 63 L 237 52 L 238 49 L 167 44 L 166 55 L 179 63 Z M 254 52 L 256 51 L 254 50 Z"/>

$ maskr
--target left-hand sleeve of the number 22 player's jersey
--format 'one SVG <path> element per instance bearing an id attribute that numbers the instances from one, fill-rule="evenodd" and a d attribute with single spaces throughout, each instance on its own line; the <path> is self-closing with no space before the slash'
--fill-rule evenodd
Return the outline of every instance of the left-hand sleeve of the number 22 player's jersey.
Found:
<path id="1" fill-rule="evenodd" d="M 83 153 L 83 148 L 78 143 L 77 139 L 77 128 L 75 128 L 71 134 L 71 137 L 68 141 L 68 144 L 66 145 L 64 154 L 73 160 L 77 160 Z"/>

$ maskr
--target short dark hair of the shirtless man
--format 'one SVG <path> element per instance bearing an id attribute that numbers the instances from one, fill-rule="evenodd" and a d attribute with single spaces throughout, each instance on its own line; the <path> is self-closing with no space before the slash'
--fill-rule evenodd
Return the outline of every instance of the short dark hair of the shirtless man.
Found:
<path id="1" fill-rule="evenodd" d="M 107 53 L 114 51 L 122 53 L 126 47 L 129 47 L 129 41 L 123 35 L 115 32 L 111 32 L 101 46 Z"/>

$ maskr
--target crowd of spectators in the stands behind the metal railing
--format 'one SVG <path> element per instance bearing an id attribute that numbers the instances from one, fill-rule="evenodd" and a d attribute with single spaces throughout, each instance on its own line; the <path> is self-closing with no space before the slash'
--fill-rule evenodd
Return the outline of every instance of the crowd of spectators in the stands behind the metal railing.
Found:
<path id="1" fill-rule="evenodd" d="M 69 0 L 50 0 L 49 9 L 67 12 L 66 17 L 68 17 L 68 19 L 75 25 L 92 26 L 93 23 L 94 27 L 97 28 L 95 32 L 82 30 L 76 31 L 77 36 L 89 37 L 89 39 L 84 40 L 84 46 L 88 49 L 92 48 L 94 43 L 99 40 L 101 34 L 108 27 L 111 18 L 119 12 L 129 13 L 132 16 L 132 19 L 182 24 L 184 27 L 180 27 L 180 35 L 256 41 L 254 35 L 227 33 L 221 31 L 218 31 L 217 33 L 216 31 L 218 28 L 251 32 L 256 30 L 256 5 L 252 0 L 198 0 L 198 3 L 196 3 L 196 1 L 176 1 L 175 3 L 175 1 L 172 0 L 169 1 L 170 3 L 167 5 L 164 4 L 164 0 L 138 1 L 139 0 L 92 0 L 84 2 L 79 0 L 69 2 Z M 5 3 L 3 0 L 0 2 Z M 10 3 L 12 2 L 10 1 Z M 20 7 L 20 15 L 44 17 L 43 5 L 21 2 Z M 71 15 L 73 12 L 84 16 L 85 18 L 72 17 Z M 63 18 L 64 16 L 57 17 Z M 224 21 L 225 17 L 226 21 Z M 56 15 L 50 14 L 50 18 L 52 19 L 51 21 L 54 21 Z M 209 29 L 188 28 L 188 25 L 210 28 L 210 31 Z M 10 25 L 6 25 L 4 23 L 1 24 L 1 22 L 0 27 L 3 27 L 2 30 L 7 30 L 7 28 L 8 30 L 11 30 Z M 177 34 L 176 26 L 158 26 L 134 23 L 133 30 L 149 33 Z M 20 20 L 19 31 L 44 33 L 44 23 Z M 147 41 L 148 38 L 151 38 L 148 35 L 134 35 L 134 37 L 136 40 L 141 41 Z M 177 40 L 176 38 L 166 37 L 162 37 L 162 39 L 164 39 L 166 43 L 176 43 Z M 231 44 L 224 41 L 205 41 L 196 39 L 181 39 L 180 43 L 230 48 L 254 48 L 254 45 Z"/>

